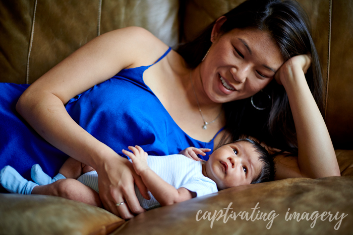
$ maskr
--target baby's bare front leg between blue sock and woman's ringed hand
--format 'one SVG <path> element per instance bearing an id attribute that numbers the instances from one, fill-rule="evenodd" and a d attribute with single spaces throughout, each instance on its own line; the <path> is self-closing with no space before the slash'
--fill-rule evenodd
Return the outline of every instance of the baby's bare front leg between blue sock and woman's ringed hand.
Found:
<path id="1" fill-rule="evenodd" d="M 32 194 L 58 196 L 103 207 L 99 194 L 75 179 L 62 179 L 52 184 L 36 186 L 33 188 Z"/>

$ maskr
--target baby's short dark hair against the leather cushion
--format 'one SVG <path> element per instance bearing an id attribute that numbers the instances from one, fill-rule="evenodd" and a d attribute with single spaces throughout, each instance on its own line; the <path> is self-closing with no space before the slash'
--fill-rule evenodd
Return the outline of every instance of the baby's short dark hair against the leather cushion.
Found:
<path id="1" fill-rule="evenodd" d="M 274 167 L 273 155 L 271 155 L 266 148 L 261 146 L 260 143 L 253 139 L 245 138 L 245 139 L 238 139 L 235 142 L 248 142 L 250 143 L 257 153 L 259 153 L 259 160 L 262 164 L 262 168 L 260 174 L 257 175 L 251 184 L 257 184 L 262 182 L 272 181 L 274 179 L 276 169 Z"/>

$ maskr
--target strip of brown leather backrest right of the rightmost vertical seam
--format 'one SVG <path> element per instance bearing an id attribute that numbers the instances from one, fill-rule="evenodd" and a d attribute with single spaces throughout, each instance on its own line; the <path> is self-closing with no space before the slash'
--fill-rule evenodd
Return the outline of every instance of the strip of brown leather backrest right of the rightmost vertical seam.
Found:
<path id="1" fill-rule="evenodd" d="M 326 125 L 335 148 L 353 143 L 353 2 L 332 1 Z"/>

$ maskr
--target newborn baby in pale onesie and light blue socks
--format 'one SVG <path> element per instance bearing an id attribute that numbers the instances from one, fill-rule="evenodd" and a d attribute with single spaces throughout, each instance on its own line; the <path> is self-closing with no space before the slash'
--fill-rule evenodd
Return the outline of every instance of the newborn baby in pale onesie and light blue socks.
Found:
<path id="1" fill-rule="evenodd" d="M 202 151 L 209 151 L 207 149 L 189 147 L 181 151 L 181 154 L 168 156 L 148 156 L 137 145 L 129 146 L 129 149 L 132 152 L 123 150 L 123 153 L 129 156 L 136 173 L 149 190 L 151 199 L 147 200 L 142 197 L 135 185 L 138 200 L 146 210 L 234 186 L 266 182 L 274 178 L 273 159 L 264 147 L 251 139 L 240 139 L 220 146 L 209 156 L 207 162 L 193 160 L 196 159 L 196 154 L 204 154 Z M 31 174 L 32 179 L 38 184 L 45 184 L 43 178 L 50 177 L 42 172 L 38 165 L 35 166 L 32 168 L 32 171 L 33 169 L 36 171 Z M 58 174 L 45 182 L 51 183 L 65 178 L 62 174 Z M 78 181 L 83 183 L 80 184 L 81 187 L 89 186 L 98 192 L 96 171 L 83 174 Z M 31 194 L 32 190 L 38 186 L 22 178 L 10 166 L 0 172 L 0 182 L 12 193 Z M 80 188 L 76 189 L 80 190 Z M 90 192 L 96 193 L 93 190 Z"/>

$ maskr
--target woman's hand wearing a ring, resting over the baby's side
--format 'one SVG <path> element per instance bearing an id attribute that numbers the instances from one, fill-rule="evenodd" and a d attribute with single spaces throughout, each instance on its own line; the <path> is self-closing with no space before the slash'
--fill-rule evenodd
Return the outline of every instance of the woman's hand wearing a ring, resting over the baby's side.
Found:
<path id="1" fill-rule="evenodd" d="M 129 160 L 116 154 L 96 170 L 99 176 L 99 196 L 106 210 L 124 219 L 145 211 L 136 197 L 134 183 L 143 197 L 149 199 L 147 188 Z M 116 206 L 120 202 L 126 203 Z"/>

